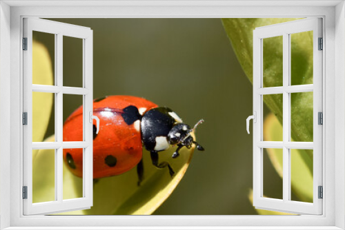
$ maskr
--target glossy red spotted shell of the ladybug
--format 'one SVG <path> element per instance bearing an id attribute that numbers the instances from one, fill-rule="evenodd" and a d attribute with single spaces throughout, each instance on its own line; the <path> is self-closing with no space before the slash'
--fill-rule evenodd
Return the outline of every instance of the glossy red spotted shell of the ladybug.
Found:
<path id="1" fill-rule="evenodd" d="M 93 140 L 93 178 L 123 174 L 141 160 L 141 133 L 135 125 L 127 125 L 121 116 L 122 109 L 129 105 L 146 108 L 146 111 L 157 107 L 155 103 L 136 96 L 108 96 L 93 103 L 93 114 L 100 120 L 99 134 Z M 81 106 L 75 110 L 64 123 L 63 141 L 83 140 L 82 109 Z M 67 154 L 72 157 L 69 163 Z M 107 165 L 107 156 L 116 158 L 115 166 Z M 83 149 L 63 149 L 63 160 L 73 174 L 83 176 Z"/>

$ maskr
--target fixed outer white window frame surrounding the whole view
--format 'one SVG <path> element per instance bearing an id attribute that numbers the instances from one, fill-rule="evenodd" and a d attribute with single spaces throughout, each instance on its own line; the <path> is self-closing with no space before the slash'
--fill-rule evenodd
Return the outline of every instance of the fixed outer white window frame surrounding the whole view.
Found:
<path id="1" fill-rule="evenodd" d="M 345 229 L 344 15 L 344 1 L 1 1 L 1 229 Z M 322 17 L 325 50 L 323 215 L 23 216 L 22 181 L 18 180 L 23 166 L 18 167 L 22 162 L 20 48 L 23 17 Z"/>

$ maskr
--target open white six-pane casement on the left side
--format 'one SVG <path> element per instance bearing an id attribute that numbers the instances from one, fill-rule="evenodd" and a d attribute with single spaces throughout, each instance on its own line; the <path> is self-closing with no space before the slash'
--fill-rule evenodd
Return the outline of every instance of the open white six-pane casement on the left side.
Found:
<path id="1" fill-rule="evenodd" d="M 44 32 L 55 36 L 55 85 L 32 84 L 32 32 Z M 83 72 L 82 87 L 63 85 L 63 36 L 81 39 Z M 92 139 L 92 30 L 45 19 L 23 19 L 23 37 L 27 39 L 27 50 L 23 51 L 23 112 L 28 114 L 28 124 L 23 126 L 23 186 L 27 187 L 27 198 L 23 199 L 24 215 L 61 213 L 64 211 L 90 209 L 93 204 L 93 139 Z M 68 55 L 68 54 L 65 54 Z M 46 92 L 55 98 L 55 141 L 32 142 L 32 93 Z M 63 95 L 80 95 L 83 101 L 83 140 L 63 141 Z M 90 122 L 91 119 L 91 122 Z M 63 149 L 83 149 L 83 196 L 63 200 Z M 55 150 L 55 200 L 32 202 L 32 149 Z"/>

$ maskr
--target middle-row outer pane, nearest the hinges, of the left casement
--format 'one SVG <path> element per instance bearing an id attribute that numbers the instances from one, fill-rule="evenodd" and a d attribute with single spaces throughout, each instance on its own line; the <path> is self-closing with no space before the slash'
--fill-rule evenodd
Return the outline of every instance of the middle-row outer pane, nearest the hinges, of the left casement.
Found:
<path id="1" fill-rule="evenodd" d="M 55 94 L 32 92 L 32 142 L 54 142 L 54 133 Z"/>

